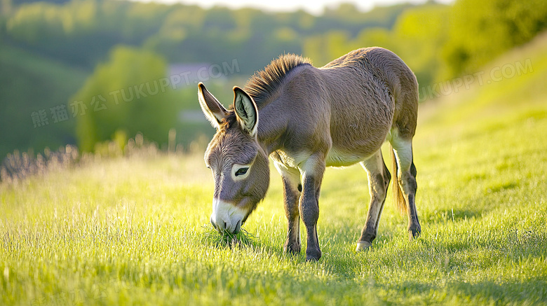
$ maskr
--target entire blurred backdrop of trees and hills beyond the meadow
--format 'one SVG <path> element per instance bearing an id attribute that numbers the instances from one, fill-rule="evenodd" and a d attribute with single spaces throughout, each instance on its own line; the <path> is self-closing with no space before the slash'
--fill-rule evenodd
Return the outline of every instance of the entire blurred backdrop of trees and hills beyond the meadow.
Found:
<path id="1" fill-rule="evenodd" d="M 214 130 L 196 84 L 227 106 L 232 86 L 283 53 L 320 67 L 389 48 L 426 103 L 547 29 L 545 0 L 275 3 L 0 0 L 0 160 L 67 144 L 123 151 L 135 135 L 203 148 Z"/>

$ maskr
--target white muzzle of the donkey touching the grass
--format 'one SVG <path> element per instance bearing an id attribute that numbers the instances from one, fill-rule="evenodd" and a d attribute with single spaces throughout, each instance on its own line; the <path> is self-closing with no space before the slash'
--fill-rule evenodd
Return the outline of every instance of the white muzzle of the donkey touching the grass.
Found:
<path id="1" fill-rule="evenodd" d="M 241 223 L 245 218 L 245 211 L 220 199 L 212 200 L 211 224 L 219 232 L 237 233 L 241 230 Z"/>

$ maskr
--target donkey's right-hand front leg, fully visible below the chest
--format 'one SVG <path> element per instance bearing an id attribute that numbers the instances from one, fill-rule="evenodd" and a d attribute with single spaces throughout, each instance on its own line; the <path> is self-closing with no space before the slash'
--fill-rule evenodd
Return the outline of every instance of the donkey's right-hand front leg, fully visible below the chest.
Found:
<path id="1" fill-rule="evenodd" d="M 302 173 L 302 196 L 300 197 L 299 211 L 302 221 L 306 226 L 308 246 L 306 248 L 306 260 L 319 260 L 321 250 L 317 237 L 317 219 L 319 218 L 319 191 L 323 173 L 325 173 L 325 160 L 323 158 L 309 158 L 300 169 Z"/>

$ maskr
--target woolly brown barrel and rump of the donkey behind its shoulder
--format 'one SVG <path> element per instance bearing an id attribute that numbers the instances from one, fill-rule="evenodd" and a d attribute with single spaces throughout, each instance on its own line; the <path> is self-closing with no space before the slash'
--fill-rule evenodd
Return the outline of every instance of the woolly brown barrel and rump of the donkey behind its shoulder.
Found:
<path id="1" fill-rule="evenodd" d="M 363 160 L 378 150 L 390 131 L 412 138 L 418 84 L 395 53 L 361 48 L 319 70 L 330 93 L 332 148 L 327 164 Z"/>

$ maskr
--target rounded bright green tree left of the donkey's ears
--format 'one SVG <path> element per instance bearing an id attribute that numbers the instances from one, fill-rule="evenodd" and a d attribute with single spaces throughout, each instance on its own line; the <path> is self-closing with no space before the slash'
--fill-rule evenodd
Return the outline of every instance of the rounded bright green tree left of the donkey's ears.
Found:
<path id="1" fill-rule="evenodd" d="M 154 53 L 114 49 L 109 62 L 98 65 L 72 99 L 74 105 L 84 102 L 88 107 L 76 117 L 79 148 L 93 151 L 97 142 L 112 139 L 116 131 L 142 132 L 166 143 L 180 110 L 180 97 L 167 84 L 166 70 L 166 62 Z"/>

